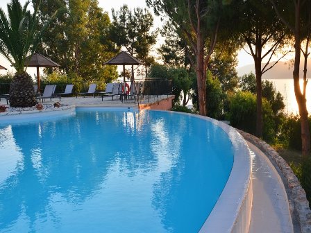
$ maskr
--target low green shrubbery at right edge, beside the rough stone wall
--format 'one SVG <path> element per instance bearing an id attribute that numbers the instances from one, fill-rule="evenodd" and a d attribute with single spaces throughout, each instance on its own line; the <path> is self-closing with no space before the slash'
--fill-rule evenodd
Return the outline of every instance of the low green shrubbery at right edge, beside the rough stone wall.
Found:
<path id="1" fill-rule="evenodd" d="M 301 186 L 305 189 L 307 199 L 309 200 L 309 206 L 311 206 L 311 157 L 304 158 L 299 165 L 294 165 L 293 163 L 289 165 L 299 179 Z"/>

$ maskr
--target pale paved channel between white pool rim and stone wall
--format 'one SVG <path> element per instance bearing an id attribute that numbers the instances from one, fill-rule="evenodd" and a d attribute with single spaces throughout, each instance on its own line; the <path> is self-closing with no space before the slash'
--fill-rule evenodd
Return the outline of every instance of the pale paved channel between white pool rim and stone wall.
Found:
<path id="1" fill-rule="evenodd" d="M 250 233 L 294 232 L 287 194 L 269 159 L 250 142 L 253 164 L 253 209 Z"/>

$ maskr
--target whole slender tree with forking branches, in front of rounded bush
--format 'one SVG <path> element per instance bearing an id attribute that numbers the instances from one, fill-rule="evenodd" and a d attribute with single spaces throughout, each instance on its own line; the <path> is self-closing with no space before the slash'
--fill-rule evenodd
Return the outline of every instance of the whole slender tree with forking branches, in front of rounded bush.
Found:
<path id="1" fill-rule="evenodd" d="M 257 114 L 256 136 L 262 137 L 262 74 L 269 71 L 276 62 L 270 62 L 273 55 L 281 52 L 288 32 L 274 13 L 269 1 L 246 0 L 239 8 L 242 41 L 248 46 L 249 55 L 255 64 Z M 285 55 L 286 53 L 283 53 Z M 262 60 L 267 62 L 262 65 Z"/>

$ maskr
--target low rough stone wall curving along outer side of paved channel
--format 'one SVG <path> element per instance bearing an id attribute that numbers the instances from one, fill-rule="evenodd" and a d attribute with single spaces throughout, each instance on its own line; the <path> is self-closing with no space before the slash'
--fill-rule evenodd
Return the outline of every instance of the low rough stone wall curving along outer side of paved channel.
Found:
<path id="1" fill-rule="evenodd" d="M 280 175 L 283 175 L 284 185 L 287 187 L 287 191 L 289 191 L 289 199 L 294 202 L 294 209 L 291 209 L 292 213 L 296 216 L 297 221 L 299 223 L 299 227 L 301 232 L 307 233 L 311 232 L 311 210 L 309 207 L 309 202 L 305 196 L 305 190 L 301 187 L 301 184 L 296 178 L 296 175 L 290 168 L 290 166 L 285 162 L 283 157 L 271 148 L 269 144 L 258 137 L 250 135 L 247 132 L 243 132 L 241 130 L 237 130 L 244 139 L 250 141 L 252 144 L 257 146 L 262 152 L 267 155 L 267 157 L 271 160 L 274 166 L 277 166 L 277 170 L 280 171 Z"/>

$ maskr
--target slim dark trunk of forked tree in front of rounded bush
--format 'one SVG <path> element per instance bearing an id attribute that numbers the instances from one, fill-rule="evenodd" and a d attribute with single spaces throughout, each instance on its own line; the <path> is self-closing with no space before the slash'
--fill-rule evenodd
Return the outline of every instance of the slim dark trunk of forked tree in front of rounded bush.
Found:
<path id="1" fill-rule="evenodd" d="M 261 55 L 260 55 L 261 56 Z M 256 114 L 256 137 L 262 138 L 262 72 L 261 59 L 255 59 L 257 114 Z"/>

